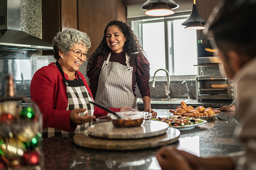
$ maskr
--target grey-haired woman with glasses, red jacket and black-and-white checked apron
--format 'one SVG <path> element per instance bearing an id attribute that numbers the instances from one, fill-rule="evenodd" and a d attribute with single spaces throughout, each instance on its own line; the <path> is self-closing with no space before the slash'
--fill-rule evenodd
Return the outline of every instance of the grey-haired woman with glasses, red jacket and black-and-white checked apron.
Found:
<path id="1" fill-rule="evenodd" d="M 52 40 L 56 63 L 37 70 L 31 80 L 31 99 L 43 114 L 43 135 L 72 136 L 92 124 L 95 115 L 107 114 L 89 103 L 92 93 L 78 71 L 86 60 L 90 38 L 76 29 L 57 33 Z M 120 108 L 110 108 L 120 111 Z M 128 109 L 122 107 L 121 111 Z M 93 115 L 94 113 L 94 115 Z"/>

